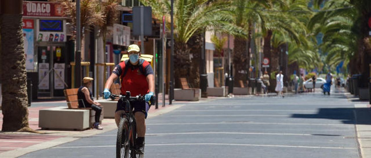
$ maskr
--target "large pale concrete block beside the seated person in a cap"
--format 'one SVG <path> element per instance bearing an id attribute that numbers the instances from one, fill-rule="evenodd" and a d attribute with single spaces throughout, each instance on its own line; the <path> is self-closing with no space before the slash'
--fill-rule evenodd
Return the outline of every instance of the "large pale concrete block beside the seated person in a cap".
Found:
<path id="1" fill-rule="evenodd" d="M 65 106 L 39 111 L 39 127 L 56 130 L 86 130 L 89 126 L 89 110 L 68 109 Z"/>

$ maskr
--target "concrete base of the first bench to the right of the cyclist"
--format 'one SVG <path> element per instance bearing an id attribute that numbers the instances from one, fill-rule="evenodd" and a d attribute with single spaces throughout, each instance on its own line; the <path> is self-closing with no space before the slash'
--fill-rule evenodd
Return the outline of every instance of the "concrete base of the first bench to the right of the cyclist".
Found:
<path id="1" fill-rule="evenodd" d="M 201 89 L 174 89 L 174 99 L 179 101 L 198 101 Z"/>

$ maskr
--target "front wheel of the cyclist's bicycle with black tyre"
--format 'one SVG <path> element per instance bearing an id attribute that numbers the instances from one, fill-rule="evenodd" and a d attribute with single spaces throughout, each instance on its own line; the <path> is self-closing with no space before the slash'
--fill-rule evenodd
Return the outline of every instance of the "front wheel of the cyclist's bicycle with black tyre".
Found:
<path id="1" fill-rule="evenodd" d="M 116 158 L 129 158 L 129 134 L 128 134 L 129 121 L 122 117 L 117 129 L 116 138 Z"/>

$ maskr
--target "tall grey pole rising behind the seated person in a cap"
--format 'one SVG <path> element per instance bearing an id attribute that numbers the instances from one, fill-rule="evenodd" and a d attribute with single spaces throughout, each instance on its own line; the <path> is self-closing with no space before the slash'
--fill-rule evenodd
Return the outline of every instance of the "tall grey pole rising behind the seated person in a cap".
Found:
<path id="1" fill-rule="evenodd" d="M 75 86 L 81 86 L 81 17 L 80 0 L 76 0 L 76 53 L 75 53 Z"/>

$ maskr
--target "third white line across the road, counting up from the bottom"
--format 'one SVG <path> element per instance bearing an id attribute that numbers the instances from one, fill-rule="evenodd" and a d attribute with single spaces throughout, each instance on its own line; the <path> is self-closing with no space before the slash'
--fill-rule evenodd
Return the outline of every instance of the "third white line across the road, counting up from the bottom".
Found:
<path id="1" fill-rule="evenodd" d="M 280 125 L 319 125 L 319 126 L 354 126 L 354 124 L 325 123 L 269 123 L 269 122 L 205 122 L 205 123 L 150 123 L 147 125 L 186 125 L 186 124 L 280 124 Z"/>

